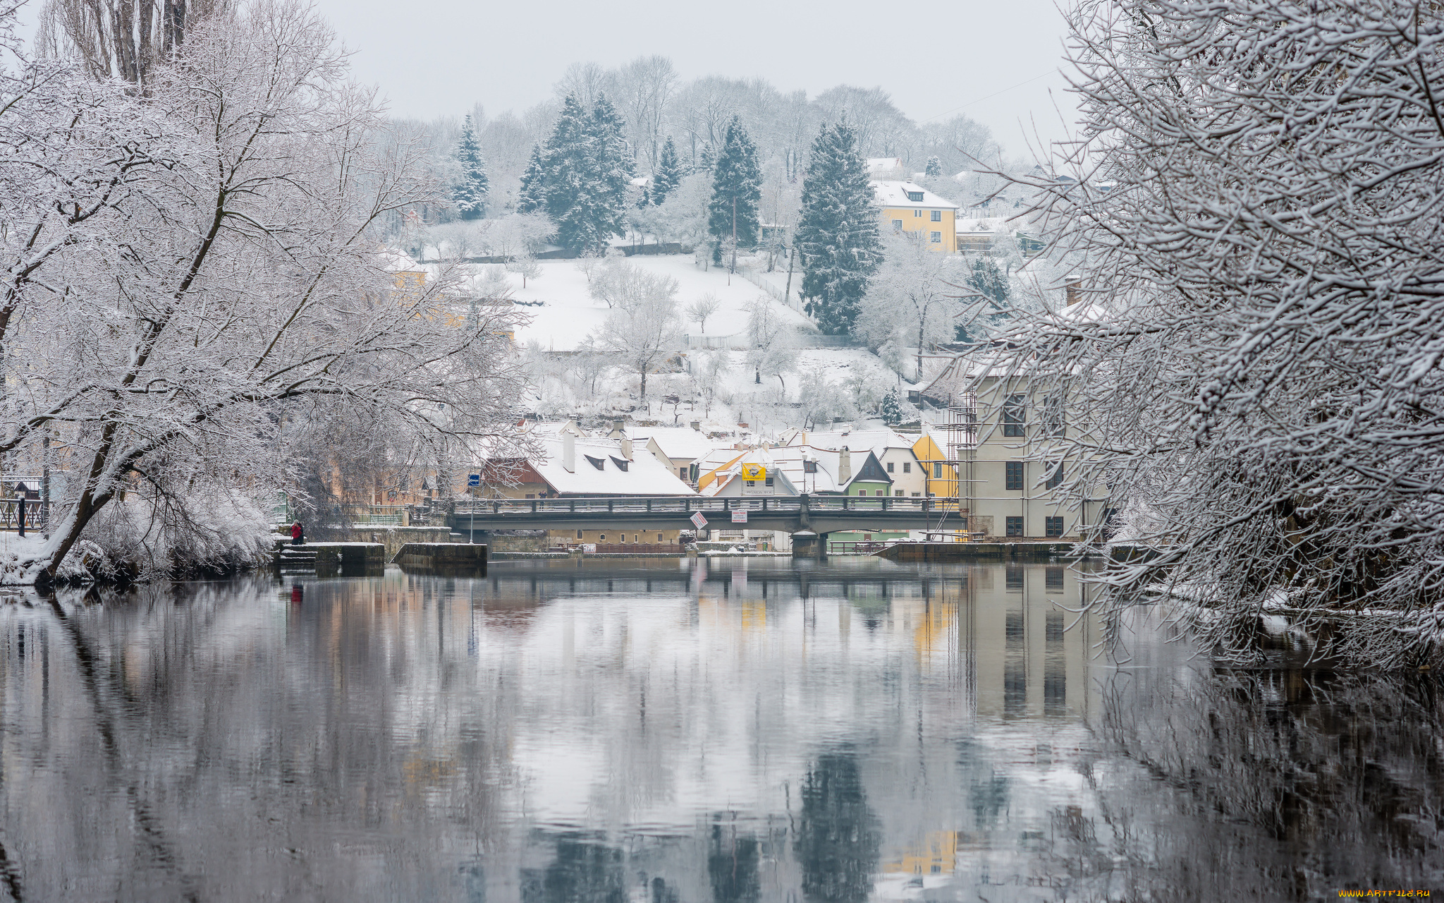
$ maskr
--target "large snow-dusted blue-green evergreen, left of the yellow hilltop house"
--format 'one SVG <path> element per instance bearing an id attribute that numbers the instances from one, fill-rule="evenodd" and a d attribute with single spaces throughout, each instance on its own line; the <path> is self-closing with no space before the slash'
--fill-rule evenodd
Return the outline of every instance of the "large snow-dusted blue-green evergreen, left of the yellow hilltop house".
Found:
<path id="1" fill-rule="evenodd" d="M 813 142 L 796 241 L 807 314 L 823 332 L 846 335 L 882 262 L 868 166 L 846 121 L 825 124 Z"/>

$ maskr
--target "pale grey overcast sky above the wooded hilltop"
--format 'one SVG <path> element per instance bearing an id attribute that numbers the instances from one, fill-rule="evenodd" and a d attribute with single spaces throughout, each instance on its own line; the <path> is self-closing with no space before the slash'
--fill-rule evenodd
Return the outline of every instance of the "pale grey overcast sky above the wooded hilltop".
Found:
<path id="1" fill-rule="evenodd" d="M 380 85 L 397 116 L 461 116 L 474 103 L 488 114 L 520 111 L 549 97 L 573 62 L 614 66 L 663 53 L 689 79 L 762 77 L 809 95 L 838 84 L 882 87 L 917 121 L 976 118 L 1009 153 L 1025 153 L 1019 120 L 1056 140 L 1063 136 L 1056 105 L 1071 117 L 1071 95 L 1060 91 L 1063 19 L 1053 0 L 318 6 L 355 51 L 357 75 Z"/>

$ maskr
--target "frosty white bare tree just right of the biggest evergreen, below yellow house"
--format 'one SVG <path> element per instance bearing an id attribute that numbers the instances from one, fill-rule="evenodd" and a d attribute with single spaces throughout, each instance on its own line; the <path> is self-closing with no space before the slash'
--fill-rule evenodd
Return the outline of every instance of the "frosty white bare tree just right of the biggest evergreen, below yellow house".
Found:
<path id="1" fill-rule="evenodd" d="M 923 355 L 953 337 L 957 257 L 933 250 L 926 233 L 892 233 L 887 257 L 868 282 L 855 332 L 877 351 L 891 344 L 897 357 L 914 350 L 913 381 L 923 379 Z"/>

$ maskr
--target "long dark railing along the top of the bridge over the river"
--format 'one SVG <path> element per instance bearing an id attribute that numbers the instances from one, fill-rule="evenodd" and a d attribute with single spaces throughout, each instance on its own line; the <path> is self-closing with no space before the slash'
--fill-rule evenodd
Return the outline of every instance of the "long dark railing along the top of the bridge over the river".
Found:
<path id="1" fill-rule="evenodd" d="M 897 513 L 957 513 L 957 498 L 913 498 L 902 496 L 742 496 L 708 498 L 699 496 L 653 497 L 621 496 L 609 498 L 477 498 L 456 503 L 456 514 L 497 517 L 507 514 L 591 514 L 591 513 L 658 513 L 731 514 L 732 511 L 794 513 L 809 511 L 897 511 Z"/>

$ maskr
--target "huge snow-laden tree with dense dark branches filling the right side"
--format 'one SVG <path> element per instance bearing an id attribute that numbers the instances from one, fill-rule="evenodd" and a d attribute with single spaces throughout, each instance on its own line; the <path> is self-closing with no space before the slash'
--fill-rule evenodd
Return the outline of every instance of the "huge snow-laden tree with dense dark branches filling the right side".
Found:
<path id="1" fill-rule="evenodd" d="M 1030 179 L 1082 301 L 1014 305 L 1204 644 L 1281 614 L 1373 667 L 1444 649 L 1444 17 L 1422 3 L 1083 3 L 1083 140 Z M 1108 185 L 1100 185 L 1108 182 Z M 1069 270 L 1064 269 L 1064 273 Z M 1110 598 L 1126 601 L 1128 594 Z"/>

